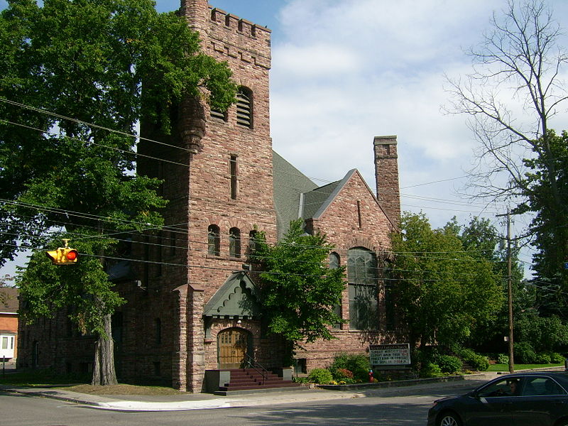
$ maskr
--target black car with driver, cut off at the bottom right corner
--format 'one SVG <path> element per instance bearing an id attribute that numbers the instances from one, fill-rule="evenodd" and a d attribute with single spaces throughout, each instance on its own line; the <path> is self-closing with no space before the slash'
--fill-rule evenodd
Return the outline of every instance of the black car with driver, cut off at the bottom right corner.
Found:
<path id="1" fill-rule="evenodd" d="M 567 390 L 566 373 L 508 374 L 435 401 L 428 426 L 568 426 Z"/>

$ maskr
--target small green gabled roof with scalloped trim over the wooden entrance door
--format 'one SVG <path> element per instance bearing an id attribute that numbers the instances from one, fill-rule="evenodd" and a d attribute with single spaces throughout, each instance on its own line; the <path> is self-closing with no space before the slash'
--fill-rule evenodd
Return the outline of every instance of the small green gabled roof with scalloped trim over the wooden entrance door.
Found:
<path id="1" fill-rule="evenodd" d="M 204 316 L 214 318 L 256 318 L 260 314 L 256 286 L 244 271 L 232 273 L 203 310 Z"/>

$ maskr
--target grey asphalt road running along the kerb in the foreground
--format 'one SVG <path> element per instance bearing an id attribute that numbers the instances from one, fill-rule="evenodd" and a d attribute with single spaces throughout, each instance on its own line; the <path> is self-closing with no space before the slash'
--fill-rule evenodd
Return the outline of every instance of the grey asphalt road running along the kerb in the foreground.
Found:
<path id="1" fill-rule="evenodd" d="M 161 413 L 121 413 L 58 400 L 0 393 L 2 426 L 410 426 L 426 424 L 432 401 L 465 393 L 482 381 L 369 391 L 342 400 L 258 408 L 226 408 Z M 277 398 L 275 398 L 275 401 Z"/>

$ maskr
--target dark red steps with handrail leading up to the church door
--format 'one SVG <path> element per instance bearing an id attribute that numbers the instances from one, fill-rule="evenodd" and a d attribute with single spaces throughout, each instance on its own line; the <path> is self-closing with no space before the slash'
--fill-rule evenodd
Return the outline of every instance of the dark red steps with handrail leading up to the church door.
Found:
<path id="1" fill-rule="evenodd" d="M 246 393 L 258 393 L 259 391 L 303 391 L 306 386 L 300 386 L 291 380 L 284 380 L 275 373 L 266 373 L 263 380 L 261 371 L 255 368 L 231 369 L 231 379 L 229 383 L 219 387 L 215 395 L 244 395 Z"/>

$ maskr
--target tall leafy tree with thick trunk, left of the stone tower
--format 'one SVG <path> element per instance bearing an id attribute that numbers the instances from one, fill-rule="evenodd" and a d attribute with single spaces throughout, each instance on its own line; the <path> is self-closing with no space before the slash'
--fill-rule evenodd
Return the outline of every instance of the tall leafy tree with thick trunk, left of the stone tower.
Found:
<path id="1" fill-rule="evenodd" d="M 168 133 L 183 98 L 224 110 L 236 87 L 184 19 L 157 13 L 154 1 L 8 3 L 0 15 L 0 264 L 18 246 L 61 245 L 65 231 L 81 259 L 56 269 L 32 258 L 19 280 L 27 314 L 71 306 L 71 319 L 99 337 L 93 383 L 115 383 L 109 329 L 119 302 L 102 273 L 116 253 L 109 236 L 160 226 L 165 205 L 159 182 L 136 174 L 138 120 Z"/>

